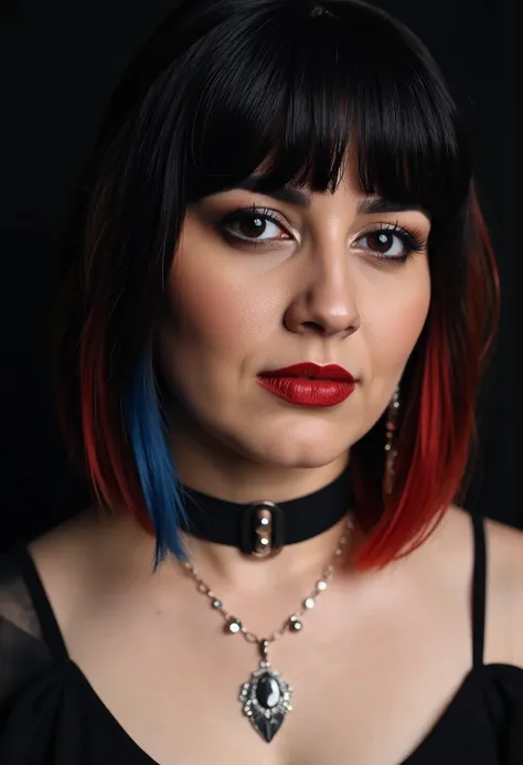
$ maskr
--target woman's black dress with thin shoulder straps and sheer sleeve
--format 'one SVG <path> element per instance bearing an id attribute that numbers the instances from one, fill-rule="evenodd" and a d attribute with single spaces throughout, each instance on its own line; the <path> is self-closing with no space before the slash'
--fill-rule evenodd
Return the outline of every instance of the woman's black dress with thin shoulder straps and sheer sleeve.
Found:
<path id="1" fill-rule="evenodd" d="M 391 765 L 523 765 L 523 669 L 482 662 L 485 543 L 482 520 L 473 527 L 473 666 L 429 735 Z M 26 549 L 0 557 L 0 765 L 120 763 L 158 765 L 68 658 Z"/>

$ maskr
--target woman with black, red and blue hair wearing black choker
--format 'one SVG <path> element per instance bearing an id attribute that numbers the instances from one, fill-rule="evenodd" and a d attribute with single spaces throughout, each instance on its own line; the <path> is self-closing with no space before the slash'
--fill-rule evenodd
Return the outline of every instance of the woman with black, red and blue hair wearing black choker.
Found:
<path id="1" fill-rule="evenodd" d="M 2 765 L 523 761 L 522 536 L 453 504 L 468 145 L 362 2 L 186 0 L 143 49 L 58 296 L 93 506 L 1 565 Z"/>

